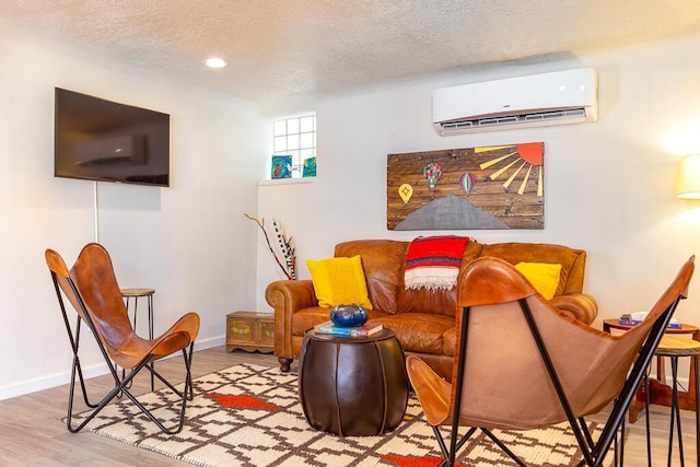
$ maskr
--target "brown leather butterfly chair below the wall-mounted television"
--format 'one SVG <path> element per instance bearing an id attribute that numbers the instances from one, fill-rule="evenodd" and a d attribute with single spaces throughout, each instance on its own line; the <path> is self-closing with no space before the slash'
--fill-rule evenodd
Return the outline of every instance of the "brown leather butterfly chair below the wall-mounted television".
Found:
<path id="1" fill-rule="evenodd" d="M 70 395 L 68 399 L 68 417 L 66 424 L 72 433 L 80 431 L 109 401 L 121 394 L 126 395 L 145 413 L 163 432 L 178 433 L 185 421 L 187 399 L 191 400 L 190 364 L 195 338 L 199 332 L 199 315 L 187 313 L 168 330 L 155 339 L 142 339 L 131 327 L 121 292 L 112 267 L 112 260 L 104 247 L 96 243 L 83 247 L 73 265 L 68 269 L 60 255 L 52 249 L 46 250 L 46 264 L 51 271 L 58 302 L 63 315 L 63 323 L 73 349 L 73 366 L 71 370 Z M 78 312 L 74 330 L 69 323 L 62 294 Z M 92 331 L 97 346 L 112 372 L 114 388 L 97 404 L 89 401 L 83 372 L 78 355 L 81 326 L 85 325 Z M 185 360 L 185 387 L 180 392 L 165 381 L 153 367 L 152 363 L 159 359 L 182 351 Z M 129 370 L 119 377 L 115 365 Z M 180 398 L 179 421 L 174 428 L 166 429 L 128 389 L 130 382 L 143 369 L 162 381 Z M 80 381 L 85 404 L 93 411 L 81 421 L 78 427 L 72 425 L 73 395 L 75 389 L 75 373 Z"/>

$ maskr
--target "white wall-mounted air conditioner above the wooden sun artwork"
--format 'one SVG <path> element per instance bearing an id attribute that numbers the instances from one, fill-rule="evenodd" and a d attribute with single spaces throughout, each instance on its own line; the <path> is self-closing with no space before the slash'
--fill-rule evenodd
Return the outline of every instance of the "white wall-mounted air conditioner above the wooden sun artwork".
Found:
<path id="1" fill-rule="evenodd" d="M 443 87 L 433 92 L 441 135 L 596 121 L 592 68 Z"/>

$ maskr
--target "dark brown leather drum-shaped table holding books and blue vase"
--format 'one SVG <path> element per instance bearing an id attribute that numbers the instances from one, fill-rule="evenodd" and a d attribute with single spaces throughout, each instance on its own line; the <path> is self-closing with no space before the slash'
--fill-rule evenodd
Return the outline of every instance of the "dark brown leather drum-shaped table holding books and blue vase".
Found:
<path id="1" fill-rule="evenodd" d="M 376 436 L 401 422 L 408 404 L 404 350 L 393 330 L 366 338 L 304 335 L 299 396 L 316 430 Z"/>

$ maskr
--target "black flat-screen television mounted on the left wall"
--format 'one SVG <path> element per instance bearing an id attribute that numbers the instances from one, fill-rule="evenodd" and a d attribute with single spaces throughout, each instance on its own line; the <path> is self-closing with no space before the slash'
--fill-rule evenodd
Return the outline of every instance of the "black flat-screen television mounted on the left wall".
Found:
<path id="1" fill-rule="evenodd" d="M 167 114 L 56 87 L 54 175 L 170 186 Z"/>

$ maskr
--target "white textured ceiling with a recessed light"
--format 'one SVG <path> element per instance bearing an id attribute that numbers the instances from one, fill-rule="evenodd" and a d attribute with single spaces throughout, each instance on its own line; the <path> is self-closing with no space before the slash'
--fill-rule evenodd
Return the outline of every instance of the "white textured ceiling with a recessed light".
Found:
<path id="1" fill-rule="evenodd" d="M 684 35 L 700 1 L 0 0 L 0 27 L 259 100 Z"/>

